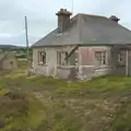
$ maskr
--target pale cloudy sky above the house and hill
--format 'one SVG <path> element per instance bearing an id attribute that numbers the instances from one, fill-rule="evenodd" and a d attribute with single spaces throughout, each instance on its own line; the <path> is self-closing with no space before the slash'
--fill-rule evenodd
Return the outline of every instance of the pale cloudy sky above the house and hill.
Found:
<path id="1" fill-rule="evenodd" d="M 76 13 L 117 15 L 131 29 L 131 0 L 0 0 L 0 45 L 25 46 L 24 16 L 27 16 L 29 45 L 57 27 L 56 13 L 64 8 Z"/>

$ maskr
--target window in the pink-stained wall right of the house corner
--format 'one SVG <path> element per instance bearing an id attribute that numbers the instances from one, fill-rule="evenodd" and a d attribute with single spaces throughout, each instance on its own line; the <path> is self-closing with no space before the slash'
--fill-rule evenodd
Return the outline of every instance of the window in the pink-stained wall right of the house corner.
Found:
<path id="1" fill-rule="evenodd" d="M 97 66 L 106 66 L 107 64 L 107 51 L 96 51 L 95 58 L 96 58 Z"/>

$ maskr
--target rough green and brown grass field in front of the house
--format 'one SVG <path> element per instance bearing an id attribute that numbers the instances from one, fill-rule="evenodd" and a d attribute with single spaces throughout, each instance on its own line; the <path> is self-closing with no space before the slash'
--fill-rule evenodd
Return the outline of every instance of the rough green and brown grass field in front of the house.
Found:
<path id="1" fill-rule="evenodd" d="M 0 78 L 0 131 L 131 131 L 131 78 L 28 79 L 24 67 Z"/>

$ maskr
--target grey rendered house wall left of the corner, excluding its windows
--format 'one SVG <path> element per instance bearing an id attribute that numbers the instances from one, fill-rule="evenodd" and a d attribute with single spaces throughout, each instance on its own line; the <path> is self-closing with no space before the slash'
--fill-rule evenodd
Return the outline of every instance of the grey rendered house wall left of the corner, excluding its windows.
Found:
<path id="1" fill-rule="evenodd" d="M 33 49 L 33 64 L 36 74 L 44 74 L 53 78 L 69 79 L 72 67 L 70 66 L 57 66 L 57 51 L 68 51 L 70 52 L 74 47 L 47 47 L 47 48 L 34 48 Z M 45 66 L 38 64 L 38 51 L 46 51 L 46 61 Z M 73 63 L 73 58 L 70 60 L 71 64 Z"/>

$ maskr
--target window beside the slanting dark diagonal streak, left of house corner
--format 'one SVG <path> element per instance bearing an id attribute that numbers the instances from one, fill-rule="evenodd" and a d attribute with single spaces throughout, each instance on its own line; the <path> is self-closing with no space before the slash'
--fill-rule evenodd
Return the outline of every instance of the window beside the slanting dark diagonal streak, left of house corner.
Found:
<path id="1" fill-rule="evenodd" d="M 66 59 L 67 57 L 67 51 L 57 51 L 57 63 L 59 66 L 68 66 L 68 59 Z"/>

